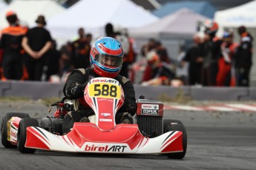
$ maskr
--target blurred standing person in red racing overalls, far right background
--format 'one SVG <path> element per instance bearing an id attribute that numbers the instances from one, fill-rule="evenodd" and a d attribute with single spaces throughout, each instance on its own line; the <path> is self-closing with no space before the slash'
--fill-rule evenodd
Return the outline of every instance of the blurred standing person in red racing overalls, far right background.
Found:
<path id="1" fill-rule="evenodd" d="M 233 42 L 232 30 L 225 30 L 223 33 L 223 43 L 221 44 L 221 57 L 218 59 L 217 86 L 235 86 L 235 75 L 232 72 L 234 67 L 234 52 L 237 43 Z M 234 70 L 234 69 L 233 69 Z"/>

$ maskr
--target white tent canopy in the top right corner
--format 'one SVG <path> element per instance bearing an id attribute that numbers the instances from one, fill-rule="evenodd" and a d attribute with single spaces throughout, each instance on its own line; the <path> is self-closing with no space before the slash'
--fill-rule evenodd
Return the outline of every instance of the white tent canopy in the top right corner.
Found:
<path id="1" fill-rule="evenodd" d="M 256 1 L 232 7 L 228 10 L 220 10 L 214 14 L 214 21 L 220 27 L 256 27 Z"/>

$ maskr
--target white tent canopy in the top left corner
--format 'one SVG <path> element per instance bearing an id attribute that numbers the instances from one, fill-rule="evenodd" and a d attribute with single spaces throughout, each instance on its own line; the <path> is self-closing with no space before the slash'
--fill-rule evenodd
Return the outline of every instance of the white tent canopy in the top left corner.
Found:
<path id="1" fill-rule="evenodd" d="M 56 15 L 62 13 L 65 8 L 56 1 L 51 0 L 16 0 L 9 4 L 0 12 L 0 27 L 1 29 L 8 26 L 5 15 L 7 11 L 13 11 L 17 14 L 20 21 L 32 27 L 35 24 L 36 18 L 39 15 L 44 15 L 46 21 Z"/>

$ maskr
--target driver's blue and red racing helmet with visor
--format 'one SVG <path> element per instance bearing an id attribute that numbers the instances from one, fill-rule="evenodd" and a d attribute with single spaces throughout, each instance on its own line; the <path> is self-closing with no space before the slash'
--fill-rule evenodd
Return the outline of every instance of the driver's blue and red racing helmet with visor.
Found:
<path id="1" fill-rule="evenodd" d="M 122 68 L 124 52 L 115 38 L 102 37 L 96 40 L 90 52 L 91 68 L 97 75 L 114 78 Z"/>

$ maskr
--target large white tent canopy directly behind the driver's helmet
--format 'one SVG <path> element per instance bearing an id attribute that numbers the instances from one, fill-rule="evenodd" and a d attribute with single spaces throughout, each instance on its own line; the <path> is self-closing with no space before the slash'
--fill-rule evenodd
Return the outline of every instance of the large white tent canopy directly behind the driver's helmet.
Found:
<path id="1" fill-rule="evenodd" d="M 82 0 L 73 4 L 64 13 L 50 18 L 48 27 L 56 38 L 70 39 L 77 35 L 79 27 L 93 37 L 105 35 L 105 24 L 119 27 L 141 27 L 157 17 L 129 0 Z"/>

